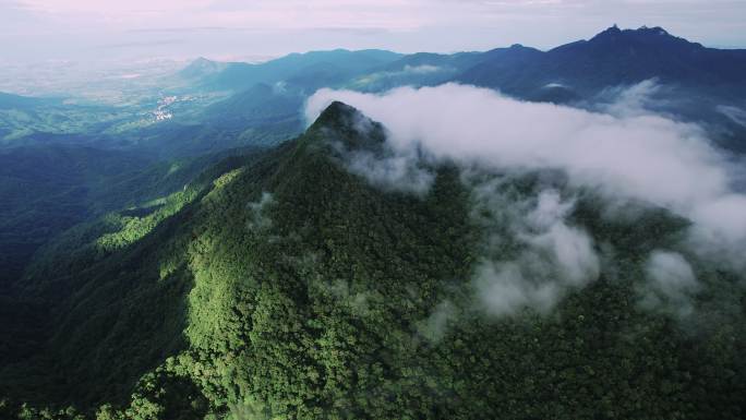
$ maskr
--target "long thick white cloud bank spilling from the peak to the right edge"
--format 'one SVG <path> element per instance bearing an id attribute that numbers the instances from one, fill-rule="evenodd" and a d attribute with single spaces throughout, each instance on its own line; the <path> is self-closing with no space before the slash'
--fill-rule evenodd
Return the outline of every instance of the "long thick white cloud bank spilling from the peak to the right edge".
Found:
<path id="1" fill-rule="evenodd" d="M 746 239 L 746 195 L 732 190 L 735 172 L 696 125 L 518 101 L 458 84 L 383 95 L 322 89 L 308 101 L 309 121 L 333 100 L 382 122 L 400 156 L 421 147 L 434 159 L 486 168 L 560 169 L 574 185 L 670 208 L 710 240 Z"/>

